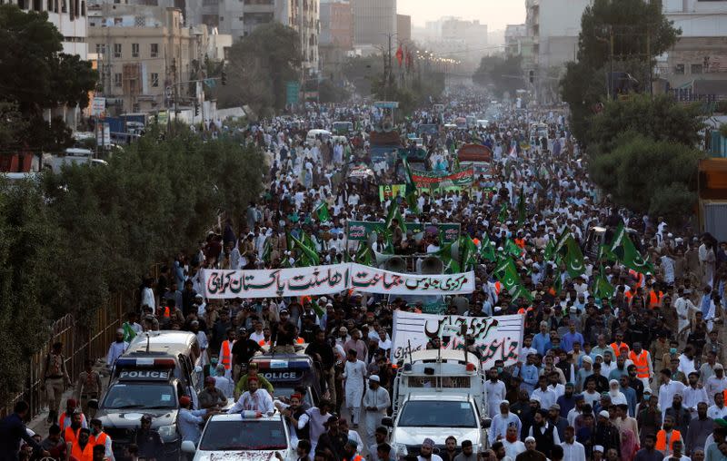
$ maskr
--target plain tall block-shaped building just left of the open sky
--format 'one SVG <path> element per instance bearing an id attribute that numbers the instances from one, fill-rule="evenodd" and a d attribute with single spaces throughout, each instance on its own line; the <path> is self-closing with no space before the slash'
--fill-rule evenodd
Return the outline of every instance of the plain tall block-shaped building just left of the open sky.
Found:
<path id="1" fill-rule="evenodd" d="M 388 46 L 396 43 L 396 0 L 352 0 L 354 45 Z M 393 46 L 393 45 L 392 45 Z"/>

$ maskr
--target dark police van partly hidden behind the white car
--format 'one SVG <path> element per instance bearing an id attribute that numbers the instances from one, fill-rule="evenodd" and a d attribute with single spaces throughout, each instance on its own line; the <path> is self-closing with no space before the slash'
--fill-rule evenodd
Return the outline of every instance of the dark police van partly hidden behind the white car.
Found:
<path id="1" fill-rule="evenodd" d="M 290 397 L 296 387 L 304 387 L 304 403 L 314 406 L 322 397 L 323 372 L 313 358 L 304 354 L 271 354 L 255 356 L 250 363 L 257 365 L 260 375 L 274 387 L 274 397 Z"/>

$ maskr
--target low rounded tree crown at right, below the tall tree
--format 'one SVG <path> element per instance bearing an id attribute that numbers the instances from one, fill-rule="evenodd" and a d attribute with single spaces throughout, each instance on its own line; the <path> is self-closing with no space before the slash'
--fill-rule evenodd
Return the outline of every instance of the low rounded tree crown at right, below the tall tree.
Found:
<path id="1" fill-rule="evenodd" d="M 611 153 L 593 159 L 591 174 L 613 201 L 681 222 L 696 203 L 702 156 L 691 146 L 631 132 L 619 137 Z"/>

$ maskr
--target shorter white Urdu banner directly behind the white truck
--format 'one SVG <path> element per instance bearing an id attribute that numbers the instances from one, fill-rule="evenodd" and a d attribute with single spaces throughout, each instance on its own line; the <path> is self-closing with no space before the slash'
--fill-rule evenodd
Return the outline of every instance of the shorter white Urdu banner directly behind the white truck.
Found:
<path id="1" fill-rule="evenodd" d="M 404 359 L 411 352 L 426 348 L 432 338 L 442 340 L 444 349 L 465 348 L 465 337 L 474 339 L 482 354 L 483 368 L 503 360 L 505 366 L 520 360 L 523 346 L 522 315 L 498 317 L 460 317 L 393 312 L 392 359 Z"/>

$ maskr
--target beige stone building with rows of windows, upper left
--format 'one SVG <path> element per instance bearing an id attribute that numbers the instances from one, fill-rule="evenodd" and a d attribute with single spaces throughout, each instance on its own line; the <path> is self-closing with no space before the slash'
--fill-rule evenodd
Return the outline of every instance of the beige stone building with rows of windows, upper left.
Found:
<path id="1" fill-rule="evenodd" d="M 195 95 L 182 82 L 204 59 L 206 27 L 185 26 L 179 8 L 105 4 L 89 8 L 88 30 L 107 113 L 192 105 Z"/>

